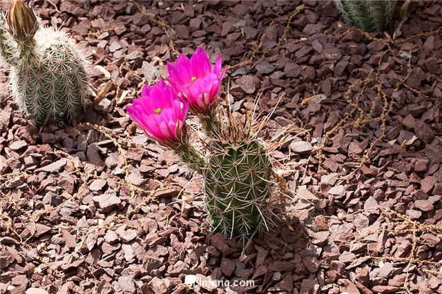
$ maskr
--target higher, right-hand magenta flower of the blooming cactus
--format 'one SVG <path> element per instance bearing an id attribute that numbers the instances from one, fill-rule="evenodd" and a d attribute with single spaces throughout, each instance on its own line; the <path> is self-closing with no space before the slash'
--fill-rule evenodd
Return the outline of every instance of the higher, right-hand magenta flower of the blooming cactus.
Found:
<path id="1" fill-rule="evenodd" d="M 191 59 L 180 55 L 175 63 L 167 63 L 169 84 L 181 101 L 189 101 L 191 112 L 206 115 L 218 96 L 220 83 L 226 69 L 221 72 L 221 55 L 215 66 L 209 61 L 209 54 L 198 48 Z"/>

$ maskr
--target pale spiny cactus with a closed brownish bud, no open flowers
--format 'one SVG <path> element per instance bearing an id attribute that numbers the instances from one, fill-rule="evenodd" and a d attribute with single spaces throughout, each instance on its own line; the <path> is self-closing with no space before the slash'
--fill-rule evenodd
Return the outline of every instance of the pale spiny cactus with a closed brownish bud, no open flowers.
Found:
<path id="1" fill-rule="evenodd" d="M 86 59 L 66 33 L 37 23 L 23 0 L 0 14 L 0 52 L 10 65 L 10 90 L 21 110 L 43 124 L 68 124 L 84 108 Z"/>

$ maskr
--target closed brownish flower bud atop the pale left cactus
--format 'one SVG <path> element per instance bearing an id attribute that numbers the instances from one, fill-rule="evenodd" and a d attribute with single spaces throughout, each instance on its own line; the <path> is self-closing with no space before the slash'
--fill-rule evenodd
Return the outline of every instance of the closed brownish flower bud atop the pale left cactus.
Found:
<path id="1" fill-rule="evenodd" d="M 23 0 L 12 1 L 6 21 L 10 34 L 21 41 L 32 39 L 38 29 L 37 17 Z"/>

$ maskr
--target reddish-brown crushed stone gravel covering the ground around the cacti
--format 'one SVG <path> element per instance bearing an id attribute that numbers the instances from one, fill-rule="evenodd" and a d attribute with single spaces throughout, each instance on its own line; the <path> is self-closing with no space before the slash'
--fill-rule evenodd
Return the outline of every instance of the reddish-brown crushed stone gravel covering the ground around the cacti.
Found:
<path id="1" fill-rule="evenodd" d="M 0 293 L 442 293 L 442 3 L 400 2 L 373 34 L 332 1 L 34 3 L 98 95 L 73 126 L 37 126 L 1 68 Z M 124 110 L 198 46 L 222 54 L 232 109 L 259 97 L 262 137 L 287 135 L 294 231 L 276 220 L 244 251 Z"/>

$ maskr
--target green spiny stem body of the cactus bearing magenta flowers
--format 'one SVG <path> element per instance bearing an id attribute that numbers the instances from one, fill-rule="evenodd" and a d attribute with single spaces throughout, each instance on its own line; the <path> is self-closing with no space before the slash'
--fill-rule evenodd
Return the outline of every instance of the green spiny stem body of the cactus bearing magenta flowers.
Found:
<path id="1" fill-rule="evenodd" d="M 204 196 L 213 228 L 247 239 L 270 219 L 271 161 L 258 141 L 217 141 L 204 168 Z"/>

